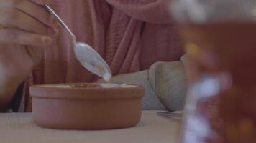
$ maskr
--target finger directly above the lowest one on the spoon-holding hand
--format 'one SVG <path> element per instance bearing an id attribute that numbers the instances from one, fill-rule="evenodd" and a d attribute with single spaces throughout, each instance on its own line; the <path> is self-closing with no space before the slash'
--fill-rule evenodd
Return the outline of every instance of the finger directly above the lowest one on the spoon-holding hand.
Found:
<path id="1" fill-rule="evenodd" d="M 17 9 L 0 9 L 0 24 L 37 34 L 54 35 L 55 30 Z"/>

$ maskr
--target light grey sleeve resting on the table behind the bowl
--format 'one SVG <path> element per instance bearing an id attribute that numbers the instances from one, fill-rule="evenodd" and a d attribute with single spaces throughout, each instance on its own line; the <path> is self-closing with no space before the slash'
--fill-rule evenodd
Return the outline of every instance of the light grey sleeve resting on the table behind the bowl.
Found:
<path id="1" fill-rule="evenodd" d="M 99 82 L 103 82 L 102 79 Z M 139 84 L 145 87 L 142 109 L 175 111 L 183 109 L 187 78 L 181 61 L 157 62 L 146 71 L 122 74 L 112 83 Z"/>

